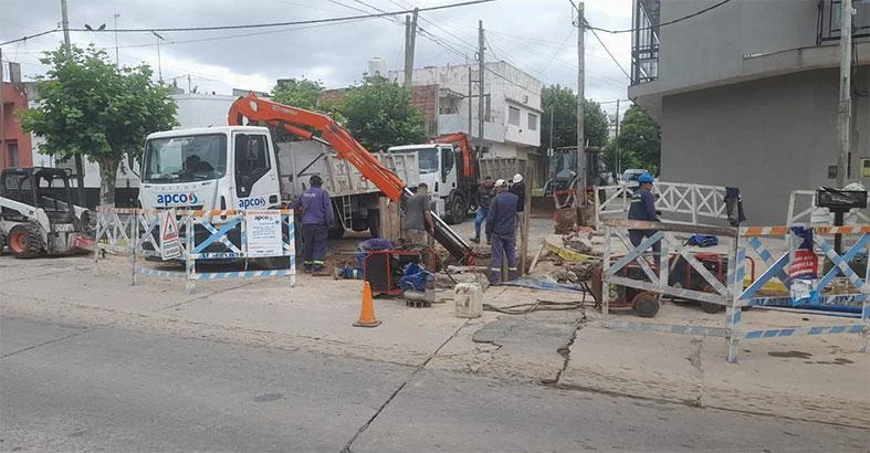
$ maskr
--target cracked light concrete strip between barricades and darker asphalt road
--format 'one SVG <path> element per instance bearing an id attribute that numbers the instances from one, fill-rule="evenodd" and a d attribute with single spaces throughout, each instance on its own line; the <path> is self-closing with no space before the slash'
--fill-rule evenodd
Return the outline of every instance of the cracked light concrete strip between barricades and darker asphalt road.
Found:
<path id="1" fill-rule="evenodd" d="M 359 315 L 359 281 L 298 275 L 294 288 L 282 278 L 203 281 L 188 295 L 184 281 L 139 277 L 139 284 L 130 286 L 129 268 L 129 260 L 118 256 L 101 261 L 97 275 L 91 257 L 2 256 L 0 307 L 7 317 L 87 320 L 568 390 L 870 424 L 870 360 L 857 352 L 857 335 L 743 343 L 741 362 L 731 365 L 724 338 L 605 329 L 591 307 L 518 316 L 484 312 L 482 318 L 467 320 L 454 316 L 447 292 L 439 294 L 442 303 L 421 309 L 399 298 L 376 298 L 376 315 L 384 324 L 365 329 L 352 327 Z M 484 298 L 506 306 L 580 296 L 492 287 Z M 745 315 L 747 327 L 843 323 L 761 310 Z M 665 303 L 651 322 L 723 327 L 724 314 Z"/>

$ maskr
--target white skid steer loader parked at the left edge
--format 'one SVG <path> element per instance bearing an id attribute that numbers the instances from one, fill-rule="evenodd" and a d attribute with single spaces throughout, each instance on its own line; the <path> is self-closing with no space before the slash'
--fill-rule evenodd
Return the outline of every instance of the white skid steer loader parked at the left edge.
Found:
<path id="1" fill-rule="evenodd" d="M 15 257 L 87 251 L 91 212 L 72 202 L 67 170 L 6 168 L 0 173 L 0 250 Z"/>

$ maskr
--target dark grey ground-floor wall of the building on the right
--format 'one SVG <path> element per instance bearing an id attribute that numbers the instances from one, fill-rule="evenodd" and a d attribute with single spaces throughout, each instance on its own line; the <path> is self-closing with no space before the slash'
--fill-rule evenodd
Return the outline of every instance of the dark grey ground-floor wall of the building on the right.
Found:
<path id="1" fill-rule="evenodd" d="M 737 2 L 744 3 L 744 2 Z M 777 2 L 772 2 L 777 3 Z M 858 71 L 870 92 L 870 66 Z M 834 186 L 838 70 L 818 70 L 664 96 L 662 175 L 674 182 L 737 186 L 751 224 L 782 224 L 792 190 Z M 870 158 L 870 98 L 856 98 L 853 180 Z"/>

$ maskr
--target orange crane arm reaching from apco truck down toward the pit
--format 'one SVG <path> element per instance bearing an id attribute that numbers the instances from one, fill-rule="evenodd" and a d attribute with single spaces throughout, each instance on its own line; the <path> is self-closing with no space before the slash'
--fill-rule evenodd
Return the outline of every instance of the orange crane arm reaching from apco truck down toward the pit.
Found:
<path id="1" fill-rule="evenodd" d="M 263 99 L 251 93 L 232 103 L 228 119 L 230 126 L 237 126 L 242 125 L 245 118 L 250 123 L 262 122 L 281 127 L 296 137 L 319 141 L 333 148 L 342 159 L 356 167 L 364 178 L 375 183 L 395 202 L 405 201 L 413 194 L 398 176 L 328 115 Z M 458 262 L 473 265 L 474 253 L 465 241 L 438 215 L 433 214 L 432 220 L 436 241 Z"/>

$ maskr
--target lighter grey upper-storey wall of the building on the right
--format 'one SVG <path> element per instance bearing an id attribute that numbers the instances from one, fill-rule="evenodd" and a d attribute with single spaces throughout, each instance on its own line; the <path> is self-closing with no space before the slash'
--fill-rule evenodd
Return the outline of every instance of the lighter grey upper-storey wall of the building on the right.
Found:
<path id="1" fill-rule="evenodd" d="M 721 0 L 662 0 L 661 22 Z M 660 31 L 661 89 L 738 76 L 744 55 L 816 45 L 817 0 L 736 0 Z"/>

